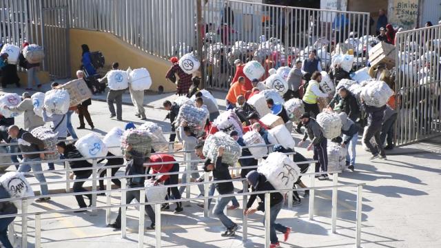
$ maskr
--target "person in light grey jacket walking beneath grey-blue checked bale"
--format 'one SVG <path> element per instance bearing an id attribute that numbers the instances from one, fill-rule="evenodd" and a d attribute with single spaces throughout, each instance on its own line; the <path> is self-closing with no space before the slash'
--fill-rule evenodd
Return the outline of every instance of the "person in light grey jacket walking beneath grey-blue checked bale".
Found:
<path id="1" fill-rule="evenodd" d="M 183 150 L 184 151 L 193 151 L 194 147 L 198 144 L 198 138 L 196 138 L 196 135 L 192 133 L 190 128 L 188 127 L 187 122 L 183 121 L 181 123 L 181 126 L 178 128 L 178 141 L 183 143 Z M 198 160 L 198 156 L 194 152 L 185 152 L 185 161 L 196 161 Z M 198 170 L 198 162 L 190 162 L 190 169 L 191 170 Z M 185 171 L 187 171 L 187 167 L 185 168 Z M 187 173 L 184 173 L 182 175 L 182 182 L 187 183 Z M 201 175 L 199 175 L 198 172 L 193 172 L 190 174 L 190 176 L 193 179 L 200 178 Z M 186 189 L 185 186 L 179 187 L 179 194 L 183 194 L 184 190 Z M 199 196 L 204 195 L 204 187 L 203 185 L 198 185 L 199 189 Z"/>

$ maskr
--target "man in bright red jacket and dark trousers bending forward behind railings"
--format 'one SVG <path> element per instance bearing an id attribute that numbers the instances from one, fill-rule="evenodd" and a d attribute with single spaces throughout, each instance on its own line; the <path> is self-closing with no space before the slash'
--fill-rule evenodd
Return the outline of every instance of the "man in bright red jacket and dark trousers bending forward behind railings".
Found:
<path id="1" fill-rule="evenodd" d="M 158 164 L 158 165 L 147 165 L 150 166 L 149 169 L 147 169 L 147 173 L 150 171 L 150 168 L 153 170 L 153 174 L 156 173 L 167 173 L 167 172 L 179 172 L 179 164 L 176 163 L 176 160 L 172 155 L 168 154 L 155 154 L 150 156 L 150 163 L 164 163 L 164 162 L 170 162 L 165 164 Z M 176 186 L 178 184 L 178 174 L 173 175 L 163 175 L 160 176 L 158 179 L 154 181 L 154 185 L 158 185 L 158 183 L 164 183 L 164 185 L 175 185 L 172 187 L 167 188 L 167 199 L 170 198 L 170 191 L 173 194 L 173 197 L 175 200 L 181 199 L 181 194 L 179 194 L 178 187 Z M 155 176 L 153 176 L 152 180 L 155 179 Z M 170 209 L 170 205 L 168 203 L 163 204 L 161 207 L 162 210 Z M 179 214 L 182 211 L 184 211 L 182 207 L 182 203 L 178 202 L 176 203 L 176 209 L 174 209 L 174 214 Z"/>

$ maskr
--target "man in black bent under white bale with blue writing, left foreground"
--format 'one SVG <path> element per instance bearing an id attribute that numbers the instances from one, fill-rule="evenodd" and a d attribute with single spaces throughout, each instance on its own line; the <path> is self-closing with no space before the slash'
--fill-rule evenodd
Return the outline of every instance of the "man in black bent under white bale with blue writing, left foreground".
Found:
<path id="1" fill-rule="evenodd" d="M 59 154 L 63 154 L 63 156 L 67 159 L 84 158 L 83 155 L 81 155 L 79 150 L 76 149 L 76 147 L 73 144 L 66 145 L 64 141 L 60 141 L 59 143 L 57 143 L 57 151 L 59 152 Z M 81 170 L 75 170 L 72 174 L 70 174 L 69 177 L 70 180 L 74 178 L 74 175 L 75 175 L 75 180 L 88 179 L 90 175 L 92 175 L 92 164 L 86 161 L 85 159 L 81 161 L 69 161 L 69 165 L 72 169 L 81 169 Z M 89 169 L 83 169 L 83 168 L 89 168 Z M 75 193 L 88 192 L 88 190 L 83 187 L 84 183 L 85 181 L 75 182 L 74 185 L 72 186 L 74 192 Z M 92 205 L 92 194 L 85 194 L 85 196 L 89 198 L 89 207 L 90 207 L 90 205 Z M 88 205 L 85 205 L 83 195 L 75 195 L 75 198 L 80 208 L 88 207 Z M 75 212 L 78 213 L 82 211 L 87 211 L 87 210 L 80 209 Z"/>

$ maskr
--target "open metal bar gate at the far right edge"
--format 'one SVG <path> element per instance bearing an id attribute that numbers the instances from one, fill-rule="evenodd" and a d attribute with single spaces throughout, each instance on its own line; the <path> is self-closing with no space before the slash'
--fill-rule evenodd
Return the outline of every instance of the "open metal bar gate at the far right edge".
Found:
<path id="1" fill-rule="evenodd" d="M 396 35 L 396 143 L 441 134 L 441 25 Z"/>

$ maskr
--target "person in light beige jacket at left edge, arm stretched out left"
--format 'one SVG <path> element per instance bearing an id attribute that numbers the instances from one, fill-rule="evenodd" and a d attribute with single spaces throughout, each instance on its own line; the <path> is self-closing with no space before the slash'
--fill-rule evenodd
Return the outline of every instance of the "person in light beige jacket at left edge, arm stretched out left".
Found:
<path id="1" fill-rule="evenodd" d="M 12 112 L 24 112 L 24 129 L 31 132 L 35 127 L 44 125 L 43 118 L 34 113 L 34 105 L 29 92 L 23 92 L 21 97 L 23 101 L 19 105 L 12 107 L 5 105 L 4 108 Z"/>

